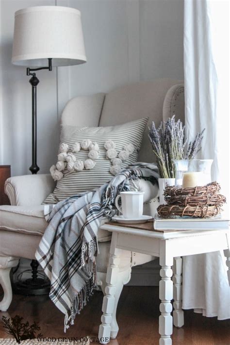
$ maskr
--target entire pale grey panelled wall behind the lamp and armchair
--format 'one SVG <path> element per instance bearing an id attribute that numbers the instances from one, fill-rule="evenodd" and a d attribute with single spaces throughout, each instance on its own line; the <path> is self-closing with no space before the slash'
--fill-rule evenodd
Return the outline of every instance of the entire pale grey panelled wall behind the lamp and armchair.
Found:
<path id="1" fill-rule="evenodd" d="M 31 165 L 31 86 L 26 68 L 11 64 L 14 13 L 37 5 L 82 12 L 87 63 L 40 71 L 38 165 L 49 171 L 58 146 L 58 115 L 78 95 L 161 77 L 183 78 L 183 0 L 0 0 L 0 164 L 12 175 Z"/>

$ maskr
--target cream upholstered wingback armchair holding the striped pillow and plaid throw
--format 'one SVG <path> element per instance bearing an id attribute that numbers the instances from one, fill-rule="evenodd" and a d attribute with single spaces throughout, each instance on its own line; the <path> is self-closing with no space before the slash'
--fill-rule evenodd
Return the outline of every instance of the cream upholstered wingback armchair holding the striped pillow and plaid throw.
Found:
<path id="1" fill-rule="evenodd" d="M 154 120 L 156 126 L 174 114 L 184 117 L 183 83 L 170 79 L 138 82 L 116 88 L 107 94 L 77 97 L 67 102 L 61 122 L 77 126 L 113 126 L 148 116 L 148 126 Z M 152 162 L 153 154 L 145 132 L 139 154 L 139 162 Z M 51 162 L 50 162 L 51 163 Z M 35 259 L 34 253 L 47 227 L 41 203 L 53 191 L 55 182 L 51 176 L 38 174 L 16 176 L 5 183 L 5 192 L 11 206 L 0 206 L 0 284 L 4 296 L 0 310 L 6 311 L 12 300 L 10 269 L 19 258 Z M 143 181 L 140 188 L 145 191 L 145 213 L 154 214 L 157 201 L 157 186 Z M 109 259 L 111 235 L 99 230 L 99 255 L 97 257 L 97 279 L 102 291 Z M 119 277 L 117 279 L 115 305 L 117 305 L 123 284 L 131 277 L 131 267 L 154 260 L 154 257 L 123 251 L 120 255 Z M 111 326 L 111 337 L 117 334 L 115 313 Z"/>

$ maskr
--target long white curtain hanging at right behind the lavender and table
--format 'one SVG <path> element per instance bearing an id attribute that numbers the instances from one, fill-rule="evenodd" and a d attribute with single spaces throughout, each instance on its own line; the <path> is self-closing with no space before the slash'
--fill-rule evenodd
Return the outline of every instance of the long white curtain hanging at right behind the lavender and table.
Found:
<path id="1" fill-rule="evenodd" d="M 212 178 L 229 200 L 229 1 L 184 0 L 185 125 L 189 140 L 205 128 L 200 158 L 214 159 Z M 230 204 L 230 200 L 229 200 Z M 225 216 L 228 216 L 226 209 Z M 183 258 L 183 308 L 230 318 L 222 252 Z"/>

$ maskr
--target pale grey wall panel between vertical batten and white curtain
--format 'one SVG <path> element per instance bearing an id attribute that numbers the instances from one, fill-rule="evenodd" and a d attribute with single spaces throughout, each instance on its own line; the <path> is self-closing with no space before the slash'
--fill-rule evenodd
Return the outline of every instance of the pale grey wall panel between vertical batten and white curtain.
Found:
<path id="1" fill-rule="evenodd" d="M 183 79 L 183 0 L 140 0 L 140 79 Z"/>

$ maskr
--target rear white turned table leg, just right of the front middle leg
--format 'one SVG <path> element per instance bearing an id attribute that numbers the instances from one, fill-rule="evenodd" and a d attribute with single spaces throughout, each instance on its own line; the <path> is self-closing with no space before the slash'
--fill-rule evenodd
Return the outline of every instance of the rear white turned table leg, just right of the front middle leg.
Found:
<path id="1" fill-rule="evenodd" d="M 173 260 L 173 325 L 182 327 L 184 324 L 184 312 L 182 311 L 182 258 Z"/>

